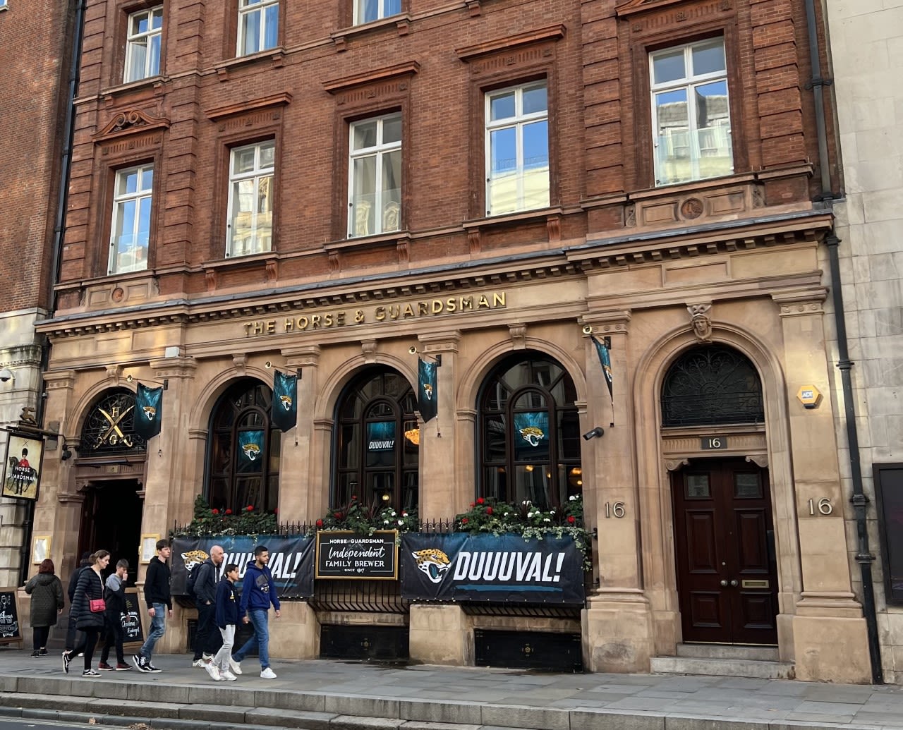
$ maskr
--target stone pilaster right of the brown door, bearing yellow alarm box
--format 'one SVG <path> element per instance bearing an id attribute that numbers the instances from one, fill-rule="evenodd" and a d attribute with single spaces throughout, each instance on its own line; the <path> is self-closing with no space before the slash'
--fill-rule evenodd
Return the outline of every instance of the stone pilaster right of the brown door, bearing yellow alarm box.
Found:
<path id="1" fill-rule="evenodd" d="M 790 459 L 803 590 L 793 619 L 796 677 L 833 682 L 871 678 L 865 619 L 852 592 L 844 531 L 834 403 L 824 337 L 824 289 L 774 295 L 784 336 Z M 816 408 L 796 398 L 822 393 Z"/>

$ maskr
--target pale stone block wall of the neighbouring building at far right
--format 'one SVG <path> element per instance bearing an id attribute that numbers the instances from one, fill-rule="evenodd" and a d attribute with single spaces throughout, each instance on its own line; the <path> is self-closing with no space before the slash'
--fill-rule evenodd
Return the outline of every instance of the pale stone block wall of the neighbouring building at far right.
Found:
<path id="1" fill-rule="evenodd" d="M 903 30 L 899 7 L 827 4 L 833 93 L 843 166 L 843 198 L 834 204 L 850 336 L 861 469 L 870 504 L 870 548 L 877 592 L 881 660 L 886 681 L 903 677 L 903 610 L 889 603 L 883 571 L 873 465 L 903 461 L 903 245 L 898 228 L 903 186 Z M 845 439 L 845 437 L 844 437 Z M 844 441 L 842 440 L 841 443 Z M 848 470 L 844 485 L 849 484 Z M 893 530 L 892 525 L 886 526 Z M 854 559 L 855 526 L 851 563 Z M 858 568 L 856 573 L 858 575 Z M 858 581 L 857 581 L 858 582 Z"/>

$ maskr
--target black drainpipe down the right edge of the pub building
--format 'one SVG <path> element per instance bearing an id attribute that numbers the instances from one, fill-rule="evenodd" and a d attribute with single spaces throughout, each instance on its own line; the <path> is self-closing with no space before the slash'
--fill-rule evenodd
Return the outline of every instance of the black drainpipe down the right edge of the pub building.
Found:
<path id="1" fill-rule="evenodd" d="M 822 87 L 833 84 L 831 79 L 822 78 L 822 62 L 819 58 L 818 34 L 815 26 L 815 0 L 805 0 L 805 24 L 809 34 L 809 59 L 812 63 L 812 80 L 805 85 L 812 91 L 815 103 L 815 130 L 818 134 L 818 166 L 821 178 L 821 199 L 828 206 L 834 198 L 831 189 L 831 174 L 828 167 L 828 140 L 824 125 L 824 97 Z M 841 387 L 846 420 L 847 445 L 850 450 L 850 474 L 852 476 L 852 496 L 850 502 L 856 517 L 856 562 L 859 563 L 862 580 L 862 613 L 865 616 L 866 634 L 869 641 L 869 660 L 871 663 L 871 681 L 874 684 L 884 683 L 881 670 L 881 644 L 878 635 L 878 614 L 875 609 L 875 586 L 871 579 L 871 565 L 875 556 L 869 547 L 869 528 L 866 521 L 866 509 L 870 502 L 862 489 L 862 467 L 859 452 L 859 431 L 856 429 L 856 403 L 853 400 L 852 378 L 850 370 L 852 360 L 847 347 L 845 311 L 843 309 L 843 291 L 841 287 L 841 265 L 838 246 L 841 239 L 832 231 L 826 236 L 824 243 L 828 246 L 828 264 L 831 273 L 831 298 L 834 305 L 834 326 L 837 329 L 837 368 L 841 371 Z"/>

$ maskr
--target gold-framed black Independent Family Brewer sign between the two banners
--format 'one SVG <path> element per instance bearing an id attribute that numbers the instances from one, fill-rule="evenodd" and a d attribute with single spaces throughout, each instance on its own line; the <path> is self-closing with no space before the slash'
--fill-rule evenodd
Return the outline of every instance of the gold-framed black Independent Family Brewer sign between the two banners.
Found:
<path id="1" fill-rule="evenodd" d="M 317 532 L 316 578 L 398 578 L 398 548 L 394 530 L 372 535 L 357 532 Z"/>

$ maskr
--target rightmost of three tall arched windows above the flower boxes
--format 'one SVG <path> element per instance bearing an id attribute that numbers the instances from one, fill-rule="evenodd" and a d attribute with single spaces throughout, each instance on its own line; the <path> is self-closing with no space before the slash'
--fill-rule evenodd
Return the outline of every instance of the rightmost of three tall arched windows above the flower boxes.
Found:
<path id="1" fill-rule="evenodd" d="M 571 376 L 540 353 L 504 359 L 479 394 L 478 494 L 554 507 L 583 486 Z"/>

